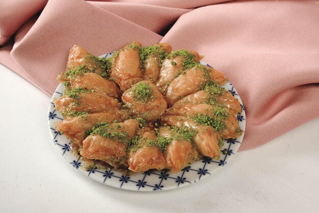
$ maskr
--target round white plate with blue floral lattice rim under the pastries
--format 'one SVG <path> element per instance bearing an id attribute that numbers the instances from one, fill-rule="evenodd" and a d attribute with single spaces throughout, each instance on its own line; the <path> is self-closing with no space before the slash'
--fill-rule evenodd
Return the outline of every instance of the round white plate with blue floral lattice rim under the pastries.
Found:
<path id="1" fill-rule="evenodd" d="M 102 55 L 102 58 L 111 57 L 113 53 Z M 201 62 L 203 65 L 208 64 Z M 211 66 L 210 66 L 211 67 Z M 245 131 L 246 116 L 243 102 L 234 88 L 228 82 L 223 86 L 230 91 L 232 95 L 240 101 L 242 106 L 242 113 L 237 116 L 238 124 L 242 130 Z M 48 124 L 49 131 L 52 136 L 53 143 L 57 146 L 62 156 L 75 169 L 81 171 L 83 174 L 105 185 L 122 188 L 124 190 L 132 191 L 162 191 L 171 190 L 174 188 L 186 186 L 195 183 L 199 180 L 209 177 L 217 170 L 225 167 L 229 160 L 235 155 L 238 148 L 240 148 L 243 141 L 244 134 L 236 139 L 226 139 L 224 146 L 221 148 L 220 160 L 214 160 L 210 157 L 203 157 L 197 162 L 192 163 L 178 173 L 172 173 L 169 170 L 152 170 L 144 174 L 124 175 L 121 172 L 101 169 L 88 169 L 84 167 L 81 156 L 75 155 L 71 152 L 70 141 L 56 130 L 55 123 L 63 120 L 63 116 L 56 110 L 54 100 L 62 96 L 64 91 L 63 84 L 60 84 L 54 92 L 49 104 L 48 110 Z"/>

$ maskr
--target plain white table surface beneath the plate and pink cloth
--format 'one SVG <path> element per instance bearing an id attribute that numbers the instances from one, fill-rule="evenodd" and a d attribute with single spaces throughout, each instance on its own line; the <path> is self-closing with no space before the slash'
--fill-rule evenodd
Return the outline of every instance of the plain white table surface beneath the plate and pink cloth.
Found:
<path id="1" fill-rule="evenodd" d="M 52 143 L 50 98 L 0 64 L 0 212 L 319 212 L 319 118 L 236 153 L 217 173 L 132 192 L 76 171 Z"/>

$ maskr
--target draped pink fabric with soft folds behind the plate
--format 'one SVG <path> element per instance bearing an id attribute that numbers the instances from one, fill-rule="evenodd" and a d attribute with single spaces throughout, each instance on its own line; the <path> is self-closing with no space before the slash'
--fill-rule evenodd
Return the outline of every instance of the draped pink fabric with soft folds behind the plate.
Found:
<path id="1" fill-rule="evenodd" d="M 319 115 L 318 1 L 129 2 L 2 1 L 0 62 L 50 96 L 73 44 L 101 55 L 135 40 L 169 42 L 205 55 L 240 93 L 241 150 Z"/>

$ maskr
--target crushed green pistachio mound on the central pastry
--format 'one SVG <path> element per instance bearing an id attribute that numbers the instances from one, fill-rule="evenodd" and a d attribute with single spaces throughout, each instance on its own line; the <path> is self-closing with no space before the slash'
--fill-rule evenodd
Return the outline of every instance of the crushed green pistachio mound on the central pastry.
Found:
<path id="1" fill-rule="evenodd" d="M 155 99 L 151 86 L 146 82 L 139 82 L 130 90 L 132 97 L 141 102 L 147 102 L 148 99 Z"/>

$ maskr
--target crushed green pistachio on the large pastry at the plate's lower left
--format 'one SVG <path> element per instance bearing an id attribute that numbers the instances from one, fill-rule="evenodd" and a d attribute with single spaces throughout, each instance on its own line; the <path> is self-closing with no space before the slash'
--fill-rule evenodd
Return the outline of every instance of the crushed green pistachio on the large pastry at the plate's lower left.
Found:
<path id="1" fill-rule="evenodd" d="M 91 135 L 92 134 L 98 134 L 102 137 L 121 141 L 123 144 L 129 143 L 127 131 L 124 131 L 123 126 L 118 123 L 98 123 L 92 128 Z"/>

